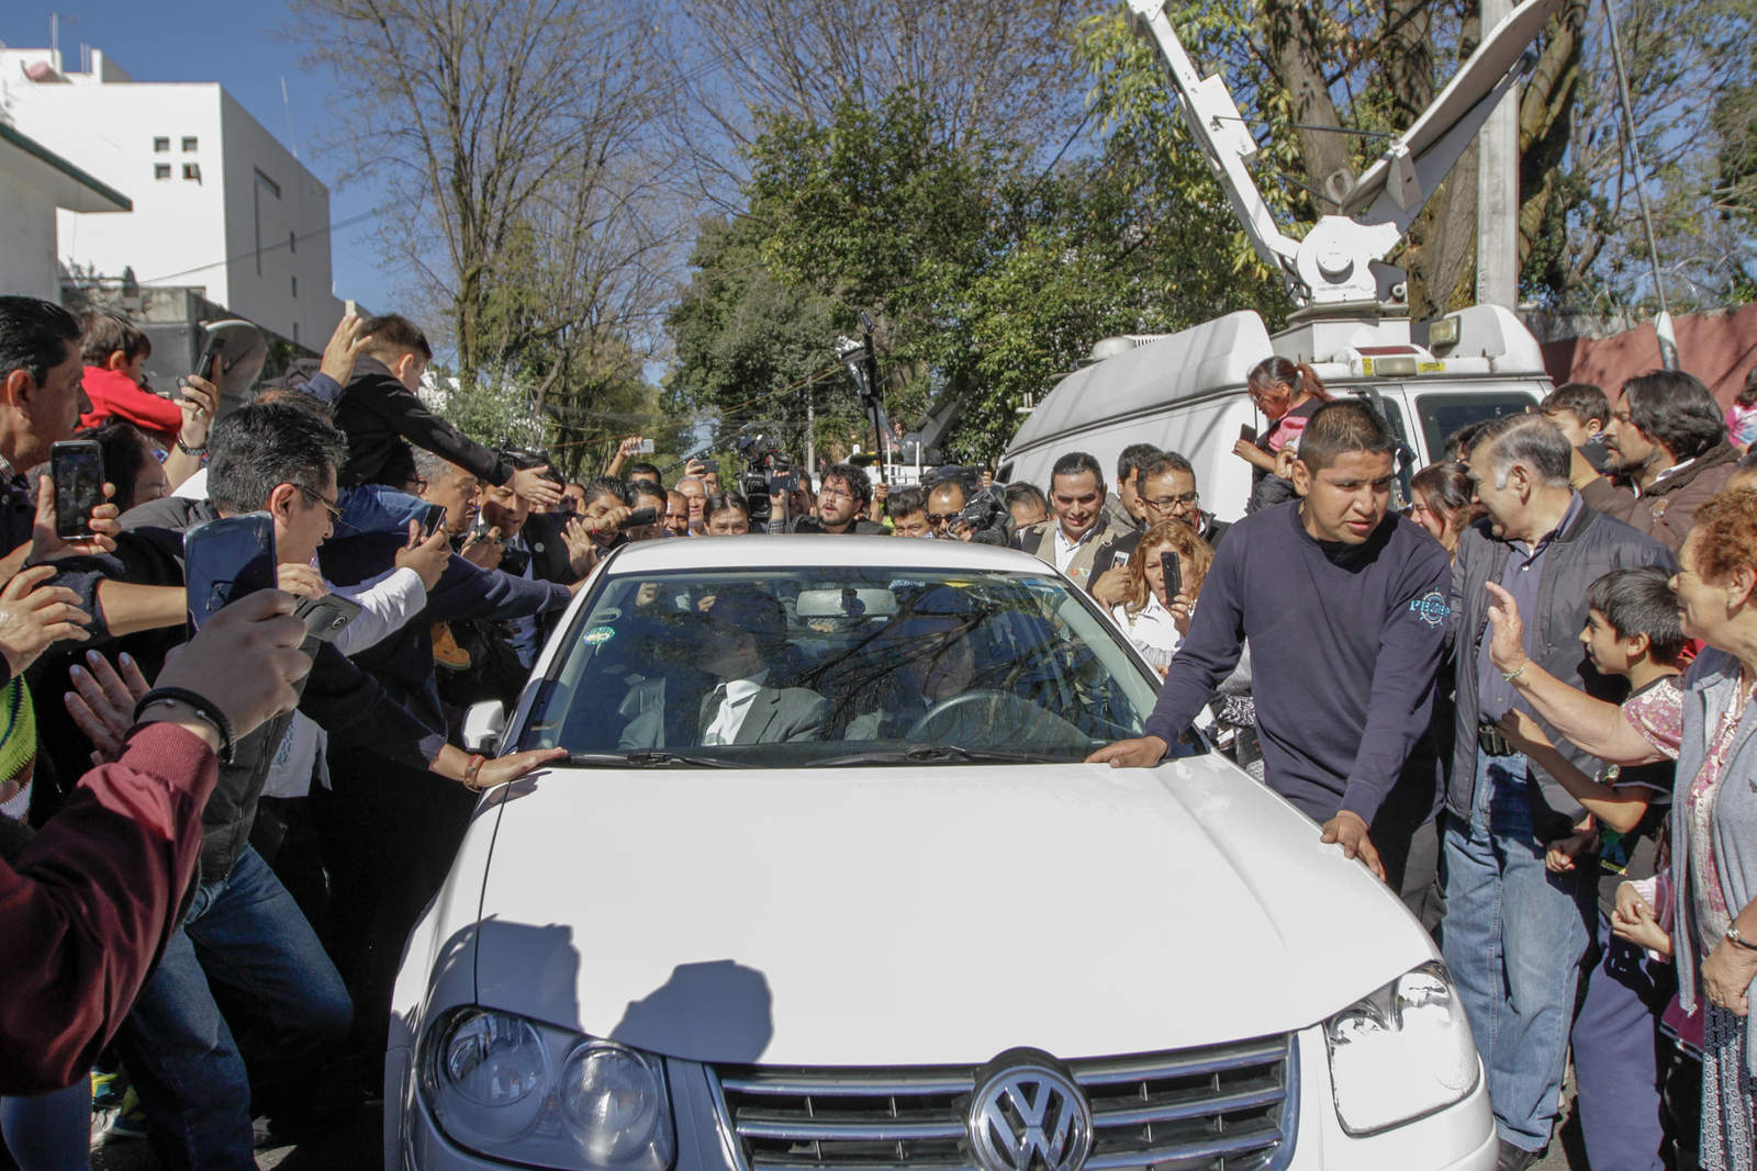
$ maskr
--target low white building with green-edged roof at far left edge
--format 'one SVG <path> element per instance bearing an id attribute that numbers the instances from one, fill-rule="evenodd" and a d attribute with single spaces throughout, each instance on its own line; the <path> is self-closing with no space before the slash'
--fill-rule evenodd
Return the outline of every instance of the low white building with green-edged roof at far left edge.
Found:
<path id="1" fill-rule="evenodd" d="M 0 123 L 0 295 L 61 298 L 56 211 L 127 212 L 128 197 Z"/>

